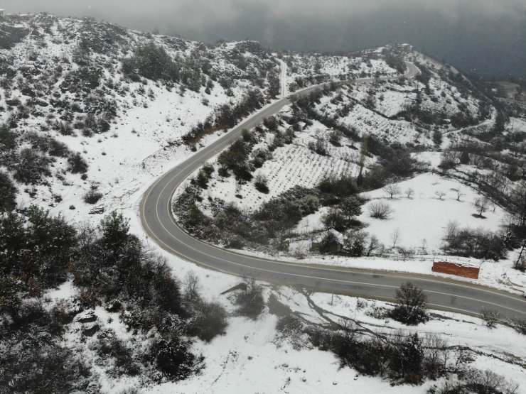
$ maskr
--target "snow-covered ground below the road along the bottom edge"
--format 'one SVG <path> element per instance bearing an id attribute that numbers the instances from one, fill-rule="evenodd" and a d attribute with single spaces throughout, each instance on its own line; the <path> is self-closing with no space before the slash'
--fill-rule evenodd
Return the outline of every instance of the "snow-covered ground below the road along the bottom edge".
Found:
<path id="1" fill-rule="evenodd" d="M 185 275 L 193 270 L 200 277 L 201 290 L 208 299 L 214 299 L 233 312 L 229 295 L 220 295 L 240 279 L 193 266 L 186 261 L 166 255 L 174 273 Z M 70 294 L 68 283 L 53 295 Z M 382 378 L 363 376 L 352 368 L 340 367 L 337 357 L 328 351 L 313 348 L 308 341 L 296 338 L 282 339 L 275 329 L 279 317 L 294 312 L 307 322 L 327 324 L 328 319 L 342 323 L 350 319 L 365 329 L 383 334 L 394 334 L 399 329 L 418 332 L 419 336 L 440 334 L 449 346 L 467 346 L 472 354 L 470 366 L 491 369 L 526 387 L 524 360 L 526 345 L 522 336 L 509 327 L 488 329 L 481 319 L 461 314 L 436 312 L 431 321 L 417 327 L 407 327 L 391 319 L 375 318 L 375 308 L 389 307 L 388 303 L 363 300 L 343 295 L 312 293 L 306 295 L 293 288 L 265 286 L 267 300 L 262 315 L 256 320 L 229 317 L 224 336 L 209 344 L 197 341 L 195 353 L 205 355 L 205 368 L 198 375 L 178 383 L 141 383 L 137 378 L 111 378 L 101 375 L 102 390 L 118 393 L 124 388 L 141 388 L 141 393 L 423 393 L 441 381 L 425 381 L 422 385 L 395 385 Z M 307 298 L 308 296 L 308 298 Z M 310 300 L 309 300 L 310 299 Z M 128 333 L 117 314 L 102 308 L 95 309 L 98 322 L 106 329 L 113 329 L 121 339 Z M 69 346 L 90 349 L 90 339 L 80 341 L 82 324 L 73 323 L 66 335 Z M 95 362 L 95 354 L 87 353 Z M 519 361 L 517 363 L 517 361 Z M 522 363 L 522 366 L 521 366 Z"/>

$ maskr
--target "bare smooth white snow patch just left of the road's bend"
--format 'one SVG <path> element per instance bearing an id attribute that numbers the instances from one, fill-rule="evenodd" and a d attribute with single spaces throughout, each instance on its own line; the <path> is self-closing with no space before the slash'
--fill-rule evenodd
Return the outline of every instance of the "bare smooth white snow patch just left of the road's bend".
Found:
<path id="1" fill-rule="evenodd" d="M 21 193 L 18 204 L 24 207 L 45 203 L 53 191 L 54 195 L 62 197 L 62 201 L 53 204 L 51 212 L 63 212 L 75 221 L 87 220 L 92 217 L 88 213 L 93 206 L 82 199 L 91 182 L 96 182 L 98 191 L 103 194 L 97 207 L 104 207 L 106 211 L 119 209 L 129 205 L 130 194 L 161 175 L 163 168 L 168 169 L 193 154 L 188 146 L 180 145 L 181 136 L 188 131 L 188 126 L 183 125 L 204 119 L 213 108 L 203 106 L 200 94 L 195 92 L 180 97 L 162 87 L 151 88 L 156 92 L 154 102 L 148 108 L 132 107 L 126 111 L 108 133 L 92 138 L 57 133 L 59 141 L 66 143 L 72 151 L 82 152 L 86 158 L 90 165 L 87 180 L 82 181 L 80 175 L 69 173 L 63 174 L 65 180 L 52 177 L 50 185 L 36 186 L 34 197 Z M 219 94 L 213 99 L 221 102 Z M 218 133 L 207 136 L 201 142 L 202 146 L 219 137 Z M 59 161 L 58 166 L 63 165 L 65 160 Z M 97 221 L 100 217 L 95 215 L 93 219 Z"/>

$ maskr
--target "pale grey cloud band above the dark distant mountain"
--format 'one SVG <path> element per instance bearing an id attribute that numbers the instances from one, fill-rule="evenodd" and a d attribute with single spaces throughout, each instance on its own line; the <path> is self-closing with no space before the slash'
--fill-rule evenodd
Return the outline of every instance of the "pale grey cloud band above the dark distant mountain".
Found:
<path id="1" fill-rule="evenodd" d="M 235 23 L 255 10 L 285 22 L 298 17 L 353 18 L 392 6 L 437 11 L 449 18 L 457 18 L 460 9 L 489 15 L 526 11 L 525 0 L 4 0 L 0 4 L 12 12 L 97 16 L 125 26 L 178 26 L 181 31 Z"/>

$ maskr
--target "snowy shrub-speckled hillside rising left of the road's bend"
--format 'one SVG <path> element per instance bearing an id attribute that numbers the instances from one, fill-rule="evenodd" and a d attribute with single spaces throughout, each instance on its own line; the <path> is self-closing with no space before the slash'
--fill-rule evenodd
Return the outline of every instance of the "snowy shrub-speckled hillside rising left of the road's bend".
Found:
<path id="1" fill-rule="evenodd" d="M 0 167 L 14 171 L 16 155 L 36 148 L 50 168 L 36 169 L 42 176 L 31 182 L 12 173 L 21 191 L 18 203 L 44 205 L 77 220 L 93 208 L 83 202 L 91 189 L 103 195 L 98 207 L 118 207 L 121 199 L 129 204 L 126 196 L 158 174 L 163 161 L 191 153 L 181 146 L 182 136 L 254 89 L 264 99 L 272 97 L 270 84 L 279 73 L 279 63 L 251 41 L 208 48 L 48 14 L 5 16 L 0 24 L 13 32 L 0 49 L 0 119 L 16 138 L 11 158 L 2 152 Z M 146 53 L 139 57 L 141 51 Z M 127 59 L 159 62 L 163 56 L 174 75 L 148 68 L 154 63 L 124 70 Z M 65 143 L 67 149 L 57 155 L 42 141 Z M 88 165 L 82 177 L 68 165 L 77 152 Z"/>

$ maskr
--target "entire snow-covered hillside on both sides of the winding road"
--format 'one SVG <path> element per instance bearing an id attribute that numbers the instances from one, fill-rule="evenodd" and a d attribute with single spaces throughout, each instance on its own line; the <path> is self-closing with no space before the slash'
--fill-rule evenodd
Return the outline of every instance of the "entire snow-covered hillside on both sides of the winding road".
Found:
<path id="1" fill-rule="evenodd" d="M 520 139 L 525 118 L 502 118 L 452 67 L 409 45 L 348 56 L 274 55 L 252 40 L 210 46 L 91 18 L 0 16 L 0 191 L 9 193 L 0 200 L 0 210 L 6 211 L 0 219 L 7 218 L 2 229 L 20 230 L 14 238 L 0 234 L 0 262 L 18 259 L 38 274 L 53 267 L 53 261 L 38 260 L 45 252 L 36 243 L 38 236 L 29 236 L 35 247 L 21 241 L 24 230 L 35 230 L 43 239 L 53 233 L 41 226 L 45 220 L 38 214 L 42 221 L 36 224 L 23 216 L 32 204 L 65 217 L 72 243 L 82 243 L 64 258 L 62 271 L 47 287 L 45 275 L 39 279 L 17 271 L 18 276 L 9 273 L 11 278 L 0 273 L 1 297 L 19 301 L 7 307 L 22 306 L 23 317 L 16 322 L 21 328 L 12 329 L 14 319 L 1 298 L 1 328 L 9 332 L 9 341 L 0 344 L 2 371 L 27 363 L 38 377 L 43 368 L 31 357 L 42 360 L 53 356 L 45 349 L 62 349 L 70 357 L 63 362 L 85 366 L 70 380 L 80 376 L 87 392 L 422 393 L 470 373 L 475 379 L 478 370 L 495 371 L 524 388 L 526 349 L 519 329 L 501 324 L 490 329 L 474 317 L 435 311 L 429 322 L 407 326 L 389 317 L 393 305 L 387 302 L 255 282 L 261 309 L 243 314 L 239 297 L 249 293 L 249 281 L 240 283 L 240 278 L 166 253 L 141 226 L 139 201 L 149 185 L 241 119 L 301 87 L 402 75 L 403 60 L 414 62 L 422 74 L 414 80 L 335 86 L 308 98 L 292 97 L 279 114 L 243 133 L 237 146 L 218 152 L 190 175 L 175 197 L 197 190 L 195 209 L 206 219 L 201 224 L 210 224 L 218 234 L 208 241 L 238 249 L 246 243 L 249 250 L 242 253 L 431 275 L 433 259 L 444 257 L 450 221 L 458 221 L 458 231 L 480 227 L 477 234 L 486 239 L 510 241 L 508 233 L 508 238 L 500 234 L 515 228 L 515 217 L 508 214 L 517 212 L 504 200 L 488 200 L 478 214 L 481 202 L 476 201 L 488 194 L 489 183 L 509 193 L 525 179 L 517 165 L 525 153 Z M 505 139 L 497 143 L 491 138 L 500 120 Z M 454 145 L 475 140 L 480 146 L 470 145 L 469 153 L 466 146 Z M 491 146 L 505 149 L 497 152 Z M 240 157 L 242 163 L 236 163 Z M 395 185 L 399 192 L 391 198 L 384 185 Z M 375 236 L 374 251 L 356 257 L 313 250 L 331 232 L 326 231 L 333 226 L 327 225 L 326 215 L 340 209 L 348 195 L 361 214 L 354 207 L 345 222 L 350 227 L 339 239 L 347 247 L 359 237 L 365 242 Z M 371 217 L 375 202 L 390 205 L 385 220 Z M 103 239 L 101 219 L 114 210 L 124 215 L 125 231 L 119 231 L 125 234 L 117 235 L 126 242 L 112 250 Z M 45 234 L 38 234 L 42 228 Z M 258 244 L 252 234 L 263 241 Z M 512 269 L 518 254 L 517 239 L 512 241 L 498 262 L 446 258 L 481 266 L 480 278 L 472 283 L 524 292 L 525 273 Z M 59 243 L 53 239 L 51 249 Z M 19 249 L 19 256 L 11 256 Z M 136 289 L 137 283 L 146 286 Z M 183 310 L 173 312 L 179 303 Z M 217 317 L 226 328 L 210 341 L 186 332 L 196 324 L 214 325 Z M 38 340 L 27 338 L 28 332 L 36 332 Z M 444 336 L 448 343 L 441 343 L 441 350 L 449 352 L 439 362 L 441 374 L 422 371 L 414 385 L 396 373 L 360 371 L 320 340 L 345 333 L 399 346 L 399 337 L 415 332 L 425 345 L 426 365 L 432 357 L 433 344 L 426 342 L 431 334 Z M 166 342 L 175 345 L 156 352 L 155 346 Z M 204 362 L 195 363 L 189 373 L 170 375 L 159 368 L 160 359 L 176 364 L 181 361 L 177 357 L 200 360 L 200 354 Z M 7 356 L 11 361 L 2 363 Z M 53 377 L 53 371 L 48 375 Z M 20 376 L 9 384 L 23 387 Z M 503 379 L 499 384 L 503 391 L 513 387 Z"/>

